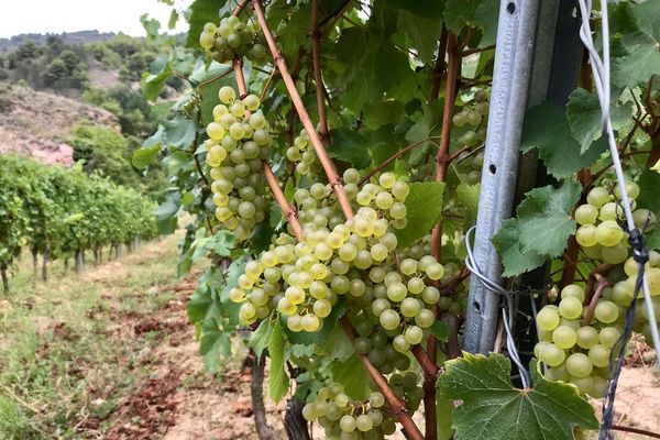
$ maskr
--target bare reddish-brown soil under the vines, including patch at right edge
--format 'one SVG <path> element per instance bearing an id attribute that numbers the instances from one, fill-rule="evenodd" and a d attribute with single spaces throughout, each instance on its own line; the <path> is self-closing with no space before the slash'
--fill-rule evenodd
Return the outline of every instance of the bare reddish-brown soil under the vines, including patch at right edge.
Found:
<path id="1" fill-rule="evenodd" d="M 100 324 L 108 339 L 106 349 L 116 365 L 116 373 L 132 374 L 131 386 L 118 387 L 89 380 L 85 391 L 87 410 L 75 418 L 73 438 L 108 440 L 230 440 L 256 439 L 250 400 L 249 369 L 237 358 L 227 371 L 211 375 L 205 372 L 195 331 L 188 323 L 186 301 L 195 289 L 197 272 L 176 280 L 161 276 L 148 288 L 128 292 L 117 288 L 125 284 L 134 268 L 138 276 L 147 276 L 150 267 L 172 263 L 176 256 L 176 238 L 152 243 L 117 262 L 89 268 L 78 283 L 100 289 L 103 307 L 92 305 L 87 318 Z M 161 267 L 163 270 L 163 267 Z M 154 270 L 155 271 L 155 270 Z M 147 283 L 150 284 L 150 283 Z M 140 304 L 154 304 L 148 311 Z M 62 300 L 62 299 L 59 299 Z M 72 299 L 73 300 L 73 299 Z M 133 306 L 127 307 L 127 304 Z M 0 314 L 1 317 L 1 314 Z M 72 326 L 44 322 L 55 337 L 77 338 Z M 1 334 L 0 334 L 1 337 Z M 0 346 L 2 340 L 0 339 Z M 90 366 L 94 369 L 94 366 Z M 84 372 L 90 377 L 95 372 Z M 267 388 L 266 388 L 267 389 Z M 113 402 L 108 411 L 95 410 Z M 57 405 L 46 403 L 45 405 Z M 279 438 L 285 403 L 268 403 L 267 417 Z M 649 366 L 627 367 L 622 376 L 617 403 L 619 425 L 660 431 L 660 376 Z M 321 438 L 315 427 L 315 438 Z M 51 438 L 45 436 L 44 438 Z M 68 438 L 68 437 L 67 437 Z M 617 436 L 618 439 L 641 439 L 642 436 Z"/>

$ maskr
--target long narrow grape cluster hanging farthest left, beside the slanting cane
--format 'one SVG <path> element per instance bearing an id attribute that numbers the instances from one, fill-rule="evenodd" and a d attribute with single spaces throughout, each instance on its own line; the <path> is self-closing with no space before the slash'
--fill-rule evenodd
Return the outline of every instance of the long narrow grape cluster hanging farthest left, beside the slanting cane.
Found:
<path id="1" fill-rule="evenodd" d="M 216 218 L 239 241 L 250 238 L 265 218 L 265 179 L 261 161 L 268 157 L 273 138 L 254 95 L 237 99 L 231 87 L 219 91 L 222 103 L 213 108 L 206 132 L 206 163 L 211 168 Z"/>

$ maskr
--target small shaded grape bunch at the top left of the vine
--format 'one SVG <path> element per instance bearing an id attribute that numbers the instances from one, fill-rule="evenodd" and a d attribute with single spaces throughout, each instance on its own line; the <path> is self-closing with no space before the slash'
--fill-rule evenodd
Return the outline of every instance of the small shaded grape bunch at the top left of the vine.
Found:
<path id="1" fill-rule="evenodd" d="M 263 35 L 256 21 L 242 22 L 230 15 L 220 20 L 220 24 L 206 23 L 199 35 L 199 44 L 219 63 L 231 62 L 234 57 L 265 64 L 266 48 L 262 44 Z"/>

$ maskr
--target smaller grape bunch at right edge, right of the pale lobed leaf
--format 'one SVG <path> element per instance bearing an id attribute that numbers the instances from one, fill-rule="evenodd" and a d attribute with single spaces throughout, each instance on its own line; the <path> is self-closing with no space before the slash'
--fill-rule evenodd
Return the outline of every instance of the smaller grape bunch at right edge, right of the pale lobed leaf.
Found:
<path id="1" fill-rule="evenodd" d="M 639 186 L 630 182 L 626 188 L 628 197 L 635 204 Z M 615 195 L 620 197 L 618 187 Z M 575 209 L 574 217 L 580 224 L 575 240 L 590 258 L 609 264 L 620 264 L 628 258 L 627 234 L 617 223 L 617 219 L 623 217 L 623 209 L 607 189 L 601 186 L 593 188 L 586 196 L 586 204 Z M 632 217 L 640 230 L 648 230 L 656 223 L 656 215 L 648 209 L 637 209 Z"/>

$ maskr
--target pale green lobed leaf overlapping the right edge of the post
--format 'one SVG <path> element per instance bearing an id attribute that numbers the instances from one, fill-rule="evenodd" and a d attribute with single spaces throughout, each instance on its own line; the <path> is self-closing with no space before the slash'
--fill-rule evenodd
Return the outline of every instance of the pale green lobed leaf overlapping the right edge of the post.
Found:
<path id="1" fill-rule="evenodd" d="M 527 193 L 516 210 L 516 219 L 503 222 L 493 237 L 505 267 L 504 276 L 519 275 L 559 256 L 575 231 L 571 218 L 581 187 L 566 182 L 560 188 L 544 186 Z"/>

